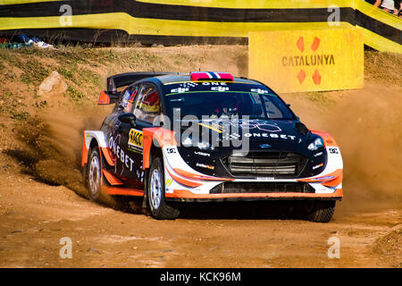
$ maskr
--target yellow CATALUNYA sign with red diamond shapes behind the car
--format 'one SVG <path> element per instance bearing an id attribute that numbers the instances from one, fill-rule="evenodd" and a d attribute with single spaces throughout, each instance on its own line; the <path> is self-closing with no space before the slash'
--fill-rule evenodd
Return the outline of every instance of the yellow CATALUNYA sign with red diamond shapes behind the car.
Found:
<path id="1" fill-rule="evenodd" d="M 277 92 L 362 88 L 362 30 L 250 32 L 248 77 Z"/>

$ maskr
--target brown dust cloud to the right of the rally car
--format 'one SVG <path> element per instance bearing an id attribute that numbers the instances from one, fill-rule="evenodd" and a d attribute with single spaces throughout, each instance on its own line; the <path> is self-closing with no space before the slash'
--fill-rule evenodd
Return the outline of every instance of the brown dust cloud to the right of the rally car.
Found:
<path id="1" fill-rule="evenodd" d="M 402 88 L 369 82 L 336 93 L 337 103 L 322 110 L 307 99 L 288 101 L 309 129 L 328 131 L 339 144 L 341 210 L 402 207 Z"/>

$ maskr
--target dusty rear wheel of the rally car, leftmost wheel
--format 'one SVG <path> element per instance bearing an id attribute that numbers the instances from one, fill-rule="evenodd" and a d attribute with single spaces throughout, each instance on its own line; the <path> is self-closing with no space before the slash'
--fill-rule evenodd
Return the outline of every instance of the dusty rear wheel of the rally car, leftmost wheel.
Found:
<path id="1" fill-rule="evenodd" d="M 102 196 L 103 176 L 101 157 L 97 147 L 91 149 L 87 166 L 88 195 L 93 201 L 100 202 Z"/>

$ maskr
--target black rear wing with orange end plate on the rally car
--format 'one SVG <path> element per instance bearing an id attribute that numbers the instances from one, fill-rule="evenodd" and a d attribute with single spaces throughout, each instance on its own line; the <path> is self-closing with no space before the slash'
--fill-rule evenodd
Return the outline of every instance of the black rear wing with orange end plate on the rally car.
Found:
<path id="1" fill-rule="evenodd" d="M 98 105 L 110 105 L 116 102 L 121 96 L 121 93 L 117 91 L 117 88 L 129 86 L 138 80 L 144 80 L 147 78 L 153 78 L 161 75 L 173 74 L 175 72 L 163 72 L 163 71 L 138 71 L 138 72 L 125 72 L 118 73 L 106 80 L 106 90 L 102 90 Z"/>

